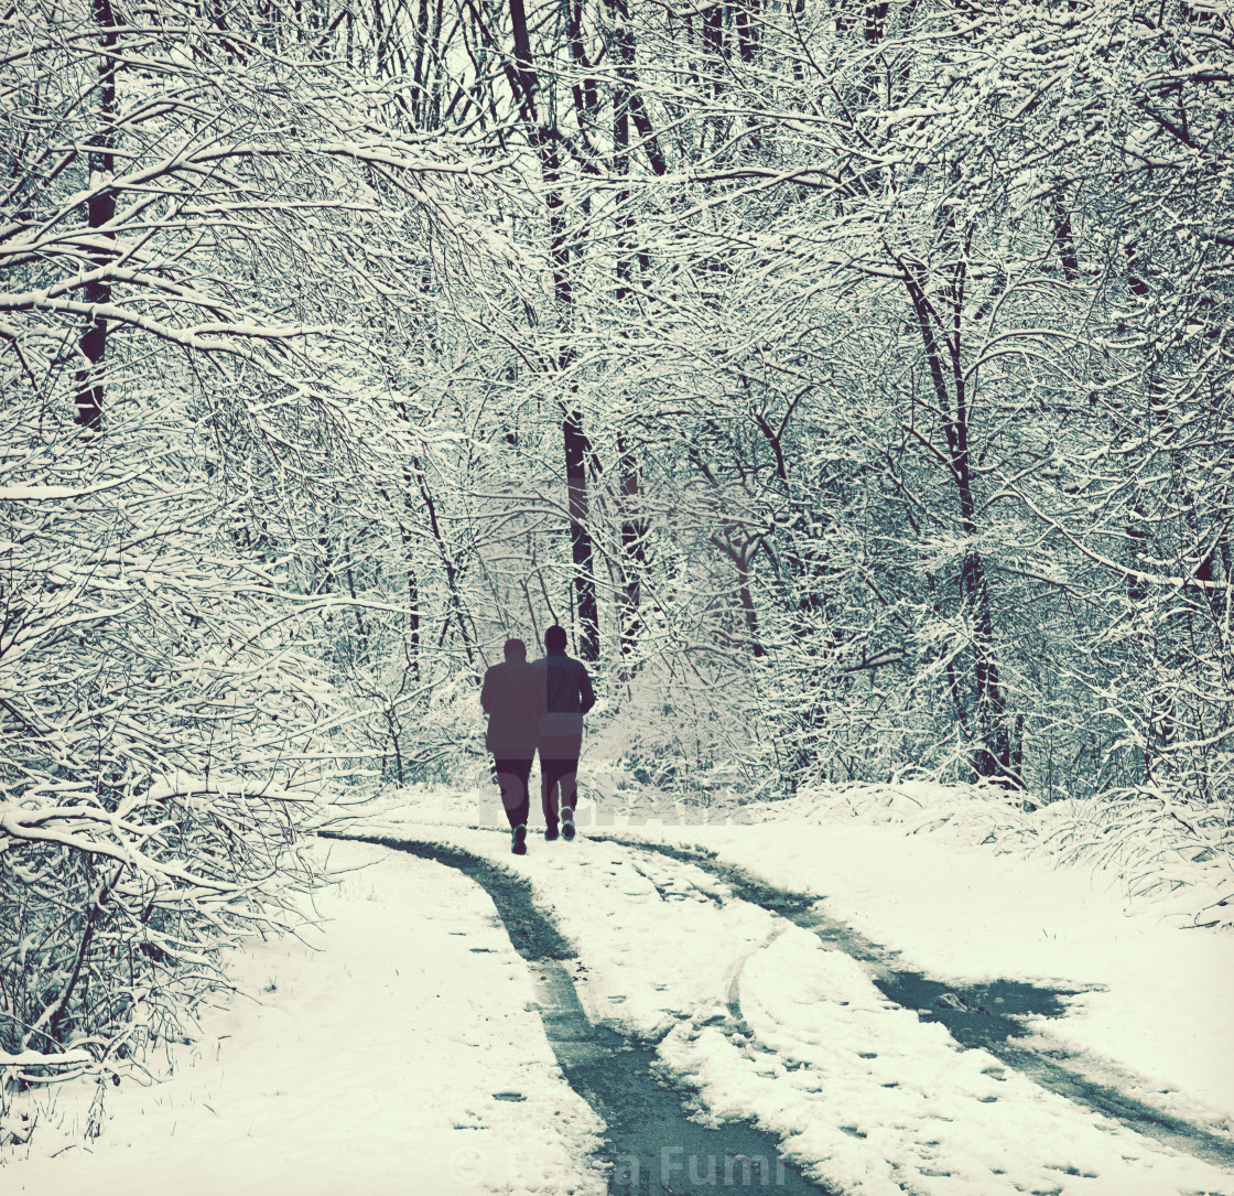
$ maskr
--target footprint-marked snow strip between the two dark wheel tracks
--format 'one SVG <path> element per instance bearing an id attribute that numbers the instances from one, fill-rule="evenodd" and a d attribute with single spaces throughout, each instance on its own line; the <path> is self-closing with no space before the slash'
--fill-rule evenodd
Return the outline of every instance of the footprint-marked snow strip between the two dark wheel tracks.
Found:
<path id="1" fill-rule="evenodd" d="M 595 1020 L 659 1040 L 718 1118 L 860 1196 L 1234 1194 L 1180 1157 L 1039 1089 L 888 1002 L 848 955 L 698 868 L 603 841 L 506 857 L 503 837 L 420 828 L 524 875 L 585 965 Z M 733 997 L 739 1018 L 734 1017 Z"/>

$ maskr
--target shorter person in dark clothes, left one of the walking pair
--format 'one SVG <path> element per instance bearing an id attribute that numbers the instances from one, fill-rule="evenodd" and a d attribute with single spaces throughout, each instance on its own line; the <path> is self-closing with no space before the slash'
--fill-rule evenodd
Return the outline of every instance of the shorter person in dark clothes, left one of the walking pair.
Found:
<path id="1" fill-rule="evenodd" d="M 527 644 L 507 639 L 506 660 L 484 674 L 480 705 L 489 716 L 484 745 L 492 753 L 492 770 L 510 818 L 512 850 L 527 854 L 527 778 L 536 755 L 545 711 L 544 674 L 527 663 Z"/>

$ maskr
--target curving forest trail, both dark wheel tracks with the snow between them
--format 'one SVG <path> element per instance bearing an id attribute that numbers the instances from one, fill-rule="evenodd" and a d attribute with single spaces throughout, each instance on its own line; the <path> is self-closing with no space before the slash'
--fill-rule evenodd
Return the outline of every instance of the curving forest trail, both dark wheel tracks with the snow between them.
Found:
<path id="1" fill-rule="evenodd" d="M 927 979 L 817 899 L 700 853 L 592 838 L 528 866 L 503 836 L 423 832 L 366 841 L 492 897 L 558 1063 L 606 1123 L 612 1192 L 705 1191 L 708 1175 L 837 1194 L 1234 1190 L 1229 1138 L 1024 1044 L 1022 1018 L 1064 1015 L 1071 992 Z M 742 1158 L 764 1164 L 726 1169 Z"/>

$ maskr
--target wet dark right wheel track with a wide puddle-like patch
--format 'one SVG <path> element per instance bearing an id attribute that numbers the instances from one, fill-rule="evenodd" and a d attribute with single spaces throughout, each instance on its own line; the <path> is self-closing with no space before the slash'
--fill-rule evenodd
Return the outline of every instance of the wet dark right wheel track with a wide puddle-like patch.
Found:
<path id="1" fill-rule="evenodd" d="M 740 868 L 719 862 L 713 853 L 702 849 L 687 850 L 612 834 L 596 838 L 692 864 L 722 880 L 742 901 L 761 906 L 812 931 L 828 947 L 866 964 L 870 980 L 887 1000 L 916 1010 L 922 1021 L 942 1022 L 960 1045 L 980 1047 L 1041 1087 L 1113 1117 L 1127 1128 L 1176 1150 L 1218 1166 L 1234 1165 L 1234 1140 L 1127 1096 L 1108 1084 L 1086 1076 L 1075 1066 L 1066 1066 L 1065 1061 L 1074 1057 L 1065 1052 L 1060 1050 L 1056 1053 L 1058 1058 L 1050 1058 L 1017 1043 L 1017 1039 L 1029 1033 L 1018 1018 L 1029 1015 L 1061 1017 L 1066 1012 L 1062 997 L 1091 990 L 1043 989 L 1016 980 L 992 980 L 974 985 L 930 980 L 923 973 L 900 965 L 900 952 L 890 950 L 819 912 L 816 907 L 824 900 L 821 896 L 776 889 Z M 733 1008 L 731 1012 L 739 1016 L 739 1010 Z M 1053 1054 L 1055 1053 L 1051 1052 Z"/>

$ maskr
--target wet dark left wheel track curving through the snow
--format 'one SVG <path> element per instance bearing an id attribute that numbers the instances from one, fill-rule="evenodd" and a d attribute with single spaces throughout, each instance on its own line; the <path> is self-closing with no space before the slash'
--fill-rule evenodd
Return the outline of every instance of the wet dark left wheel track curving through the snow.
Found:
<path id="1" fill-rule="evenodd" d="M 780 1159 L 777 1140 L 743 1122 L 708 1128 L 689 1119 L 691 1095 L 660 1074 L 653 1047 L 595 1026 L 561 960 L 570 944 L 533 905 L 531 885 L 457 848 L 413 839 L 336 834 L 457 868 L 492 899 L 510 941 L 528 961 L 537 1003 L 570 1086 L 603 1118 L 610 1196 L 716 1196 L 775 1192 L 834 1196 Z"/>

